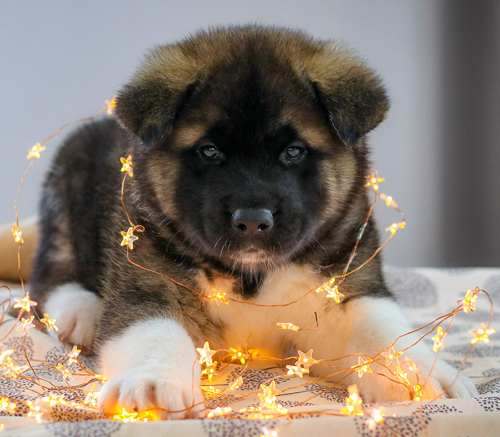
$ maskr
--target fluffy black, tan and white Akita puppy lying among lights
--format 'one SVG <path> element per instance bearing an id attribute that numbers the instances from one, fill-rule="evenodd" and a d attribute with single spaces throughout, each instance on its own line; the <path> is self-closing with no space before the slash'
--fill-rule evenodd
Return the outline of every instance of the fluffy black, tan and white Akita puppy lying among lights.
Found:
<path id="1" fill-rule="evenodd" d="M 146 56 L 117 94 L 115 119 L 82 127 L 61 147 L 41 202 L 31 297 L 67 342 L 98 353 L 107 376 L 102 410 L 160 407 L 177 417 L 197 404 L 196 414 L 196 346 L 241 346 L 277 321 L 313 327 L 327 300 L 312 293 L 287 306 L 217 306 L 130 264 L 119 244 L 129 226 L 119 158 L 132 156 L 124 203 L 145 227 L 130 251 L 134 262 L 204 295 L 215 288 L 226 298 L 283 304 L 348 262 L 370 202 L 365 134 L 387 109 L 380 79 L 362 61 L 302 32 L 215 29 Z M 370 218 L 350 269 L 377 246 Z M 379 255 L 348 275 L 341 292 L 340 303 L 318 313 L 316 330 L 255 335 L 248 346 L 276 357 L 290 347 L 324 359 L 354 354 L 334 362 L 346 368 L 358 363 L 356 353 L 374 356 L 411 330 Z M 396 350 L 414 339 L 403 337 Z M 422 344 L 405 355 L 424 374 L 432 367 Z M 311 372 L 332 370 L 315 364 Z M 437 360 L 424 397 L 476 394 L 455 375 Z M 343 382 L 357 383 L 366 401 L 410 399 L 375 373 Z"/>

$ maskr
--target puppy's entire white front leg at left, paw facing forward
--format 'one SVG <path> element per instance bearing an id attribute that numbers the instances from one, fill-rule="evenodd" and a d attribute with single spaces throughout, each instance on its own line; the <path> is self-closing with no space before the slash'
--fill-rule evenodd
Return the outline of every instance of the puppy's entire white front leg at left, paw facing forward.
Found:
<path id="1" fill-rule="evenodd" d="M 161 408 L 154 411 L 161 418 L 177 418 L 198 416 L 204 409 L 196 350 L 173 318 L 144 317 L 99 348 L 107 378 L 99 396 L 102 411 Z"/>

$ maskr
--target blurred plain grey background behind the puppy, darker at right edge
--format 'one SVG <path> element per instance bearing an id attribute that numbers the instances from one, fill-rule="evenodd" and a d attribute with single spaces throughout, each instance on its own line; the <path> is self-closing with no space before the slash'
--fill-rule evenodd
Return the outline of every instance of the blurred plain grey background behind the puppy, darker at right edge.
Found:
<path id="1" fill-rule="evenodd" d="M 388 118 L 370 135 L 373 169 L 406 213 L 386 245 L 394 265 L 500 265 L 500 2 L 0 1 L 0 223 L 27 150 L 92 115 L 144 51 L 199 27 L 257 22 L 346 41 L 384 78 Z M 58 143 L 27 176 L 20 217 L 36 212 Z M 399 215 L 377 205 L 381 232 Z M 0 248 L 1 250 L 1 248 Z"/>

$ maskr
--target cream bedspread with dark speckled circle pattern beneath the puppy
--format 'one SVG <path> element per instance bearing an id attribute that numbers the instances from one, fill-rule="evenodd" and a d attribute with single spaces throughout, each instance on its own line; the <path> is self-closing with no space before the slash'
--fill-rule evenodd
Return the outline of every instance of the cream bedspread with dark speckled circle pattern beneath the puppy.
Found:
<path id="1" fill-rule="evenodd" d="M 500 304 L 500 268 L 386 268 L 387 281 L 397 300 L 405 309 L 411 324 L 417 328 L 437 316 L 448 313 L 456 307 L 457 300 L 463 299 L 467 289 L 476 286 L 487 291 L 495 305 Z M 15 291 L 15 290 L 13 290 Z M 476 310 L 457 313 L 445 340 L 445 347 L 439 356 L 458 368 L 470 348 L 472 334 L 469 329 L 477 329 L 481 322 L 488 322 L 489 301 L 480 293 Z M 494 314 L 491 327 L 500 329 L 500 316 Z M 19 324 L 18 322 L 16 325 Z M 491 335 L 488 344 L 479 341 L 463 365 L 463 371 L 476 384 L 479 397 L 468 399 L 440 399 L 423 402 L 384 404 L 385 417 L 380 423 L 368 426 L 369 411 L 378 406 L 365 405 L 365 415 L 347 416 L 340 410 L 345 406 L 348 395 L 345 388 L 334 387 L 328 381 L 314 381 L 304 375 L 302 379 L 286 375 L 284 367 L 273 363 L 261 364 L 259 368 L 246 368 L 242 374 L 244 383 L 226 394 L 206 392 L 206 406 L 210 408 L 240 408 L 257 406 L 254 393 L 261 383 L 268 384 L 275 378 L 275 387 L 281 393 L 276 402 L 288 410 L 287 418 L 244 419 L 241 417 L 212 417 L 173 421 L 137 421 L 124 423 L 102 416 L 95 408 L 81 406 L 82 400 L 95 384 L 100 382 L 89 375 L 97 371 L 92 359 L 82 358 L 83 368 L 71 364 L 73 372 L 70 380 L 72 388 L 62 379 L 61 372 L 54 371 L 53 365 L 66 357 L 67 351 L 44 332 L 29 329 L 24 343 L 21 331 L 16 331 L 13 320 L 7 317 L 0 326 L 1 337 L 14 329 L 2 340 L 3 350 L 14 349 L 10 357 L 17 366 L 22 366 L 26 358 L 36 369 L 36 377 L 43 385 L 53 387 L 52 397 L 44 401 L 36 400 L 46 396 L 40 390 L 32 373 L 31 377 L 9 376 L 8 369 L 0 378 L 0 397 L 8 397 L 15 402 L 15 410 L 8 402 L 0 399 L 1 432 L 5 436 L 85 436 L 107 437 L 136 435 L 144 437 L 169 436 L 256 436 L 279 435 L 428 435 L 428 436 L 497 436 L 500 435 L 500 332 Z M 432 347 L 431 335 L 422 341 Z M 227 364 L 210 382 L 204 383 L 222 390 L 234 381 L 241 366 Z M 1 371 L 1 369 L 0 369 Z M 11 373 L 13 374 L 13 373 Z M 279 376 L 279 377 L 278 377 Z M 58 397 L 57 395 L 63 395 Z M 63 399 L 60 401 L 60 399 Z M 88 403 L 88 398 L 87 398 Z M 12 412 L 13 411 L 13 412 Z M 215 410 L 215 411 L 220 411 Z M 26 415 L 29 413 L 31 417 Z M 43 413 L 43 415 L 40 415 Z M 38 414 L 38 416 L 37 416 Z M 293 417 L 290 419 L 289 417 Z M 41 420 L 38 423 L 36 418 Z M 371 429 L 370 429 L 371 428 Z M 272 434 L 272 431 L 276 431 Z"/>

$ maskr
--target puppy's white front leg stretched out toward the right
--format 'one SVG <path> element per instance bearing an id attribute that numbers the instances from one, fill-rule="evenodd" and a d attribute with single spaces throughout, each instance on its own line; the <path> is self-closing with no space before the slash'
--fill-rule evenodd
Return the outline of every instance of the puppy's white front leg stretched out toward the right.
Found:
<path id="1" fill-rule="evenodd" d="M 352 372 L 346 378 L 347 382 L 359 386 L 365 401 L 410 400 L 417 384 L 421 385 L 421 398 L 424 399 L 477 395 L 474 384 L 465 375 L 457 374 L 457 370 L 440 359 L 434 363 L 435 355 L 425 344 L 418 342 L 411 346 L 418 340 L 416 334 L 404 335 L 394 344 L 395 351 L 411 346 L 398 358 L 400 369 L 396 369 L 395 360 L 389 364 L 390 360 L 386 360 L 384 355 L 379 353 L 390 346 L 398 336 L 412 330 L 401 308 L 392 299 L 361 297 L 346 302 L 342 325 L 348 338 L 344 354 L 353 354 L 343 360 L 342 364 L 345 367 L 359 364 L 361 362 L 358 361 L 359 356 L 365 362 L 370 362 L 369 357 L 372 357 L 388 365 L 392 372 L 400 371 L 403 375 L 407 373 L 405 382 L 409 387 L 398 383 L 404 382 L 404 379 L 373 361 L 365 368 L 366 371 Z M 387 350 L 385 355 L 388 353 L 390 350 Z M 419 374 L 408 368 L 406 357 L 417 364 Z M 359 373 L 362 373 L 361 377 L 358 376 Z"/>

